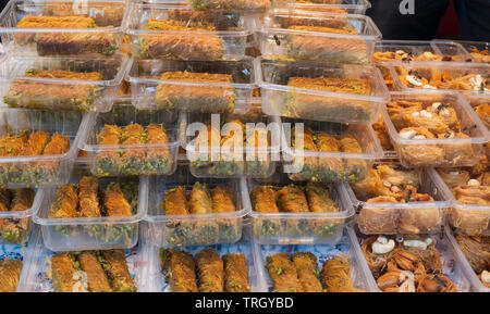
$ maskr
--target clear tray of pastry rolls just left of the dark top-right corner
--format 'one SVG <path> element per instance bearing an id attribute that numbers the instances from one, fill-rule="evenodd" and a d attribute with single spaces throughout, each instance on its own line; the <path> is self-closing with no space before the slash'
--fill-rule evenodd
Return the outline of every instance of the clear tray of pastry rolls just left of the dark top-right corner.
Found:
<path id="1" fill-rule="evenodd" d="M 351 27 L 358 34 L 322 33 L 318 28 L 290 29 L 297 25 Z M 260 50 L 267 59 L 368 64 L 380 38 L 381 33 L 365 15 L 274 10 L 261 28 Z"/>

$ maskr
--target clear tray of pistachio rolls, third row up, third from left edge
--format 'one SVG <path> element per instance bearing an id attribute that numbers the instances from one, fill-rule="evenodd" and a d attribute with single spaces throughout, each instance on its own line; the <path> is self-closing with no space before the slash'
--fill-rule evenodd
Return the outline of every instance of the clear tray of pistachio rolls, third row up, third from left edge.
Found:
<path id="1" fill-rule="evenodd" d="M 220 139 L 218 139 L 220 145 L 215 146 L 216 139 L 212 138 L 210 142 L 209 139 L 207 140 L 209 146 L 200 147 L 199 143 L 196 142 L 199 140 L 200 135 L 195 137 L 187 136 L 183 141 L 183 143 L 187 143 L 184 147 L 189 160 L 191 174 L 199 178 L 237 178 L 242 176 L 256 178 L 270 177 L 275 171 L 275 163 L 280 160 L 280 118 L 262 115 L 260 103 L 255 103 L 247 113 L 224 114 L 220 115 L 219 120 L 220 121 L 215 118 L 216 127 L 212 126 L 212 128 L 220 131 L 222 135 Z M 233 125 L 221 125 L 221 123 L 228 123 L 235 120 L 238 120 L 245 125 L 247 123 L 256 124 L 256 129 L 259 131 L 255 133 L 255 136 L 259 134 L 259 143 L 257 143 L 257 146 L 255 143 L 257 139 L 254 139 L 254 143 L 250 143 L 250 147 L 247 146 L 246 130 L 242 134 L 243 141 L 241 142 L 243 142 L 243 146 L 233 146 L 233 138 L 226 139 L 225 142 L 221 142 L 225 138 L 225 134 L 234 127 Z M 212 121 L 211 115 L 189 114 L 187 116 L 188 126 L 194 125 L 194 123 L 205 123 L 206 121 Z M 218 126 L 220 126 L 220 128 L 218 128 Z M 240 127 L 241 126 L 236 124 L 236 128 Z M 262 134 L 266 134 L 267 139 L 261 136 Z"/>

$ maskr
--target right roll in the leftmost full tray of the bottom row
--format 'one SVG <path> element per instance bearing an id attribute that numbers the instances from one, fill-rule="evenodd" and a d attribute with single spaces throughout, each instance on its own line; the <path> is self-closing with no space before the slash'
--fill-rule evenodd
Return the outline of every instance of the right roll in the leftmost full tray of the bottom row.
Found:
<path id="1" fill-rule="evenodd" d="M 100 251 L 103 259 L 103 269 L 108 274 L 113 292 L 135 292 L 136 286 L 126 264 L 124 250 Z"/>

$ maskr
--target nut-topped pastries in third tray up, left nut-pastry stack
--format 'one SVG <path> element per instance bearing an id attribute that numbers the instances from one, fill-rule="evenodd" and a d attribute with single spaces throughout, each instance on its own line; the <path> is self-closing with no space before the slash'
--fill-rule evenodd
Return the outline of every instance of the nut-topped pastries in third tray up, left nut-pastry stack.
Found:
<path id="1" fill-rule="evenodd" d="M 479 153 L 476 145 L 460 141 L 475 137 L 478 125 L 464 124 L 464 112 L 456 112 L 449 99 L 396 100 L 387 105 L 387 112 L 402 141 L 397 149 L 406 166 L 467 165 Z"/>

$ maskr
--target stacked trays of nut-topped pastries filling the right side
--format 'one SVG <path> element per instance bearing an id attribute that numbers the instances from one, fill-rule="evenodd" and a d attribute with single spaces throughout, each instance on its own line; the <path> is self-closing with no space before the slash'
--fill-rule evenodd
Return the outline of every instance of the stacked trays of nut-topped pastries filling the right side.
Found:
<path id="1" fill-rule="evenodd" d="M 488 269 L 475 266 L 488 254 L 485 243 L 490 216 L 486 201 L 486 143 L 490 135 L 485 123 L 490 70 L 485 64 L 486 47 L 481 42 L 440 40 L 381 41 L 376 46 L 375 63 L 392 92 L 391 102 L 382 110 L 375 128 L 385 155 L 397 155 L 402 167 L 388 169 L 385 164 L 378 165 L 370 181 L 352 186 L 352 196 L 358 202 L 358 229 L 365 234 L 359 234 L 358 242 L 376 279 L 372 282 L 383 291 L 406 289 L 404 279 L 394 286 L 387 284 L 393 273 L 378 272 L 379 265 L 373 260 L 375 251 L 390 238 L 394 240 L 394 250 L 405 253 L 418 250 L 428 256 L 437 249 L 439 258 L 432 256 L 431 265 L 421 258 L 422 264 L 445 276 L 442 280 L 451 290 L 483 291 L 488 285 L 482 275 Z M 363 190 L 396 197 L 393 190 L 383 192 L 393 186 L 400 188 L 395 185 L 396 177 L 404 178 L 404 185 L 412 190 L 411 197 L 401 203 L 390 204 L 388 198 L 380 201 Z M 413 186 L 415 177 L 419 183 L 415 180 L 417 185 Z M 373 189 L 377 181 L 384 188 Z M 433 237 L 438 233 L 441 237 Z M 367 236 L 378 234 L 384 237 Z M 378 256 L 385 258 L 383 254 Z M 448 267 L 450 264 L 454 267 Z M 420 281 L 416 289 L 420 290 Z"/>

